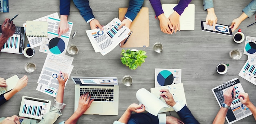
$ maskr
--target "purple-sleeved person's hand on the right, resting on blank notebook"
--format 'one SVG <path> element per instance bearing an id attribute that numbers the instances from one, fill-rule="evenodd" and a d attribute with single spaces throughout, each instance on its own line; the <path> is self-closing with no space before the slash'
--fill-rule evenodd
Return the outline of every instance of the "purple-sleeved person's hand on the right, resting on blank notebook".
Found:
<path id="1" fill-rule="evenodd" d="M 171 22 L 171 25 L 173 27 L 174 30 L 172 30 L 172 33 L 175 31 L 175 33 L 177 32 L 177 30 L 179 29 L 180 31 L 180 14 L 177 13 L 176 11 L 174 11 L 169 17 L 168 19 Z"/>

